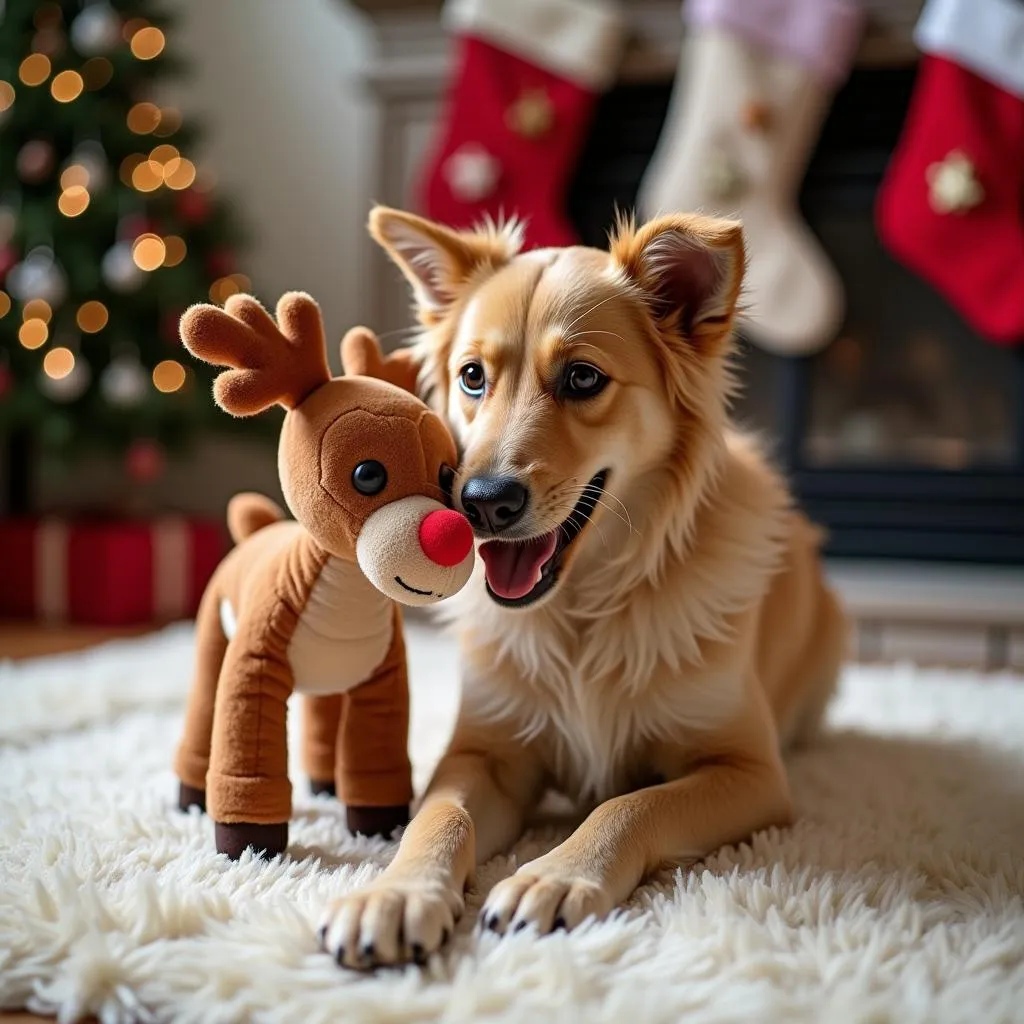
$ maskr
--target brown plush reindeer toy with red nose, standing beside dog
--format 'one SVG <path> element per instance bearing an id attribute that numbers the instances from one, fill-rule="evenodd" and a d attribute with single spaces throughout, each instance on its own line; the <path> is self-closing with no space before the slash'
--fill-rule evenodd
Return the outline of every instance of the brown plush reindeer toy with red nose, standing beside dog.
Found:
<path id="1" fill-rule="evenodd" d="M 354 328 L 332 378 L 319 309 L 293 293 L 276 324 L 249 296 L 200 305 L 185 347 L 229 367 L 221 409 L 288 410 L 278 464 L 295 520 L 258 495 L 228 508 L 237 547 L 207 588 L 175 769 L 179 803 L 209 809 L 217 850 L 272 856 L 288 844 L 286 705 L 303 700 L 303 762 L 314 792 L 345 802 L 353 831 L 409 820 L 409 691 L 395 602 L 429 604 L 473 568 L 472 530 L 443 504 L 456 450 L 410 393 L 412 364 L 385 359 Z M 378 379 L 375 379 L 378 378 Z"/>

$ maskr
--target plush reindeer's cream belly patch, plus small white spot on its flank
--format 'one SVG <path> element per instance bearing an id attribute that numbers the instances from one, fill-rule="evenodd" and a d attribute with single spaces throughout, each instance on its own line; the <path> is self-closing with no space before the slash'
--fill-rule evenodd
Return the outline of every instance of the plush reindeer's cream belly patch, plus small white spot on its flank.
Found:
<path id="1" fill-rule="evenodd" d="M 288 660 L 299 693 L 342 693 L 367 682 L 394 639 L 390 598 L 354 562 L 328 559 L 299 617 Z M 238 616 L 225 598 L 220 625 L 230 640 Z"/>

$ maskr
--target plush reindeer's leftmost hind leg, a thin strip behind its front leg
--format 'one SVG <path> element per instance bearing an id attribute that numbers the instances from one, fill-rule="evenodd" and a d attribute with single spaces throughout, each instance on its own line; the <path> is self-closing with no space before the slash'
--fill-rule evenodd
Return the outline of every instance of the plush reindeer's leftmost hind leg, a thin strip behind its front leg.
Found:
<path id="1" fill-rule="evenodd" d="M 181 810 L 196 806 L 206 810 L 206 771 L 210 764 L 213 711 L 217 679 L 227 650 L 220 625 L 220 596 L 211 587 L 203 595 L 196 618 L 196 664 L 185 710 L 185 727 L 174 759 L 180 781 L 178 805 Z"/>

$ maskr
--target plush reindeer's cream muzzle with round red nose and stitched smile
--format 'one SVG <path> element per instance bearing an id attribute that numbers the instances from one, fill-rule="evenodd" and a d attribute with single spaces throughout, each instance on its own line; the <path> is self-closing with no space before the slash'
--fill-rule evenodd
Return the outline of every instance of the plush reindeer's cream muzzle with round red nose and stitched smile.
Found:
<path id="1" fill-rule="evenodd" d="M 402 604 L 434 604 L 473 572 L 473 530 L 460 512 L 421 495 L 390 502 L 362 524 L 355 557 L 367 579 Z"/>

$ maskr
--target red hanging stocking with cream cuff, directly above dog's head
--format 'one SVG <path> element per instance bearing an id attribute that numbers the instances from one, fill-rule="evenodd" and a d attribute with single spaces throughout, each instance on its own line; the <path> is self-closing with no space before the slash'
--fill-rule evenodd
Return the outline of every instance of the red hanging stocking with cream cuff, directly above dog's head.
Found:
<path id="1" fill-rule="evenodd" d="M 447 0 L 457 70 L 425 213 L 453 227 L 525 220 L 526 246 L 572 245 L 562 203 L 594 100 L 614 76 L 624 25 L 613 0 Z"/>

